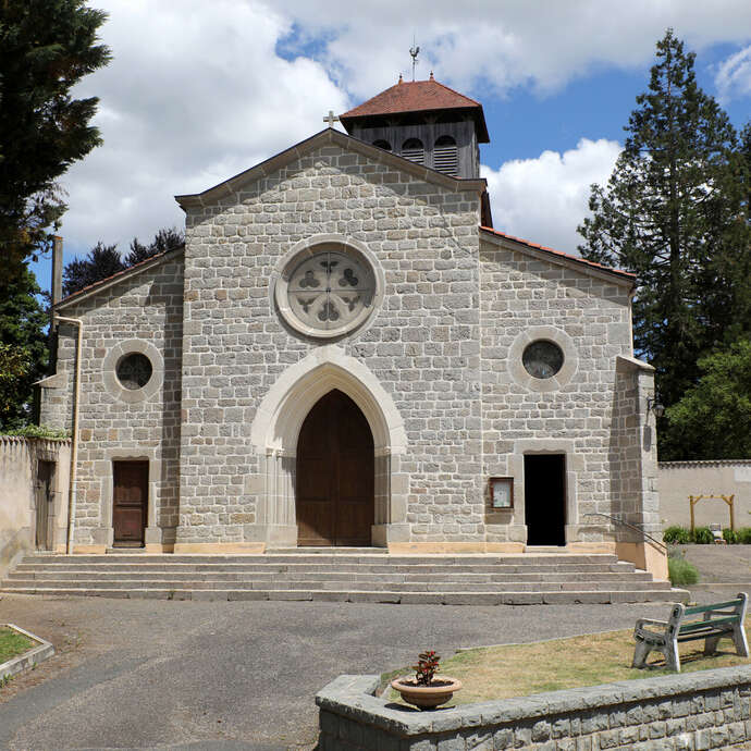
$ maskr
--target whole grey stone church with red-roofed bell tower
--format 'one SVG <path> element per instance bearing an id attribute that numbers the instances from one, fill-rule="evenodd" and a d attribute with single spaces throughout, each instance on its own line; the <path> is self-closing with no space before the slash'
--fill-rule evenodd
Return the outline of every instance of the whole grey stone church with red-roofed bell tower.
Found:
<path id="1" fill-rule="evenodd" d="M 72 550 L 554 547 L 665 578 L 635 278 L 493 229 L 482 106 L 432 74 L 338 120 L 176 196 L 184 249 L 54 303 Z"/>

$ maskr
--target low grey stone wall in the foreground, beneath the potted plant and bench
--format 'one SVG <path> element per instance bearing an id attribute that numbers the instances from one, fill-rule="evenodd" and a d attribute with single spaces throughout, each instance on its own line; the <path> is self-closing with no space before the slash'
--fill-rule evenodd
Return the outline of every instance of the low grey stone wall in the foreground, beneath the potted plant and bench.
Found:
<path id="1" fill-rule="evenodd" d="M 751 666 L 724 667 L 419 712 L 340 676 L 316 697 L 321 751 L 680 749 L 751 740 Z"/>

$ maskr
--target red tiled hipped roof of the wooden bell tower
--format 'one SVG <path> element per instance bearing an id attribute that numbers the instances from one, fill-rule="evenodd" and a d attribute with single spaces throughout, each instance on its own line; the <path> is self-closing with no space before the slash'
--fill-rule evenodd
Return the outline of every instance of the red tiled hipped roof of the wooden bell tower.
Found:
<path id="1" fill-rule="evenodd" d="M 423 112 L 427 110 L 472 110 L 478 126 L 480 143 L 487 144 L 488 126 L 482 111 L 482 104 L 464 94 L 444 86 L 430 74 L 428 81 L 402 81 L 395 86 L 377 94 L 372 99 L 340 115 L 340 121 L 347 127 L 347 121 L 357 118 L 372 118 L 387 114 L 405 114 L 407 112 Z"/>

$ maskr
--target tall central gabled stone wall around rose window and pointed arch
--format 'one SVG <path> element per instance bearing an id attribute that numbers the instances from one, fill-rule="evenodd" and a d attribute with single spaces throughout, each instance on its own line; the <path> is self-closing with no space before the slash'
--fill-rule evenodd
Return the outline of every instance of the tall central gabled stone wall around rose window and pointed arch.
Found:
<path id="1" fill-rule="evenodd" d="M 256 410 L 286 368 L 330 344 L 282 322 L 269 281 L 290 248 L 319 234 L 359 241 L 384 272 L 382 306 L 336 344 L 374 373 L 404 421 L 410 538 L 482 534 L 479 198 L 393 164 L 332 143 L 188 210 L 181 542 L 257 537 Z"/>

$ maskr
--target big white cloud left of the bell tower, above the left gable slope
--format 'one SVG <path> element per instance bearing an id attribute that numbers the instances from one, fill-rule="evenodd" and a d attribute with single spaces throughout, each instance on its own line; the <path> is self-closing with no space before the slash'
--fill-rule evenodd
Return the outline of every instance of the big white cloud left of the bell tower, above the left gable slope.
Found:
<path id="1" fill-rule="evenodd" d="M 100 29 L 113 54 L 76 96 L 99 96 L 104 145 L 63 178 L 66 245 L 125 250 L 184 224 L 173 196 L 204 190 L 322 130 L 345 95 L 321 63 L 275 53 L 291 28 L 235 0 L 111 0 Z"/>

